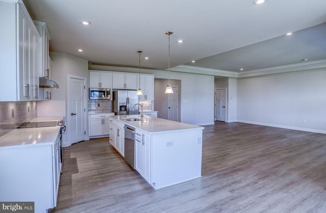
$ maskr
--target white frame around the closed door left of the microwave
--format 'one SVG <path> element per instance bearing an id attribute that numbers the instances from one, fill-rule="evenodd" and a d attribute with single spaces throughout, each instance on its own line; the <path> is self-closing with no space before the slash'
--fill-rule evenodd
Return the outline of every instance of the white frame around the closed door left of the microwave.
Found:
<path id="1" fill-rule="evenodd" d="M 86 134 L 85 134 L 85 138 L 84 140 L 88 140 L 88 127 L 87 127 L 87 124 L 88 124 L 88 96 L 87 96 L 87 92 L 88 91 L 88 82 L 87 82 L 87 78 L 86 77 L 82 77 L 82 76 L 77 76 L 77 75 L 71 75 L 71 74 L 67 74 L 67 99 L 66 99 L 66 120 L 68 123 L 70 123 L 70 112 L 69 112 L 69 109 L 70 109 L 70 103 L 69 103 L 69 100 L 70 100 L 70 96 L 71 96 L 71 92 L 70 92 L 70 78 L 77 78 L 77 79 L 81 79 L 81 80 L 84 80 L 85 82 L 85 90 L 84 90 L 84 114 L 83 114 L 83 119 L 85 121 L 84 123 L 84 129 L 86 131 Z M 69 131 L 68 131 L 69 132 Z M 66 145 L 67 146 L 70 146 L 71 145 L 71 134 L 68 134 L 68 136 L 66 137 L 68 138 L 68 141 L 66 142 Z"/>

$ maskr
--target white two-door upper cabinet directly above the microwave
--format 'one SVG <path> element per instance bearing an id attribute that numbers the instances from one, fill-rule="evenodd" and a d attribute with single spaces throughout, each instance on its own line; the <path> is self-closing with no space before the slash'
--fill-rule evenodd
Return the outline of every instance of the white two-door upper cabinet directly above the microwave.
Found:
<path id="1" fill-rule="evenodd" d="M 90 72 L 90 88 L 111 88 L 111 72 Z"/>

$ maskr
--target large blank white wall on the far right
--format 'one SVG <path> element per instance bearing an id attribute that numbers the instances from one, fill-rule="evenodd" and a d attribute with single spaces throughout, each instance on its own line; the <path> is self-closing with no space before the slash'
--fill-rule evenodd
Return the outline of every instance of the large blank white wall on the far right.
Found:
<path id="1" fill-rule="evenodd" d="M 326 133 L 326 69 L 237 82 L 238 121 Z"/>

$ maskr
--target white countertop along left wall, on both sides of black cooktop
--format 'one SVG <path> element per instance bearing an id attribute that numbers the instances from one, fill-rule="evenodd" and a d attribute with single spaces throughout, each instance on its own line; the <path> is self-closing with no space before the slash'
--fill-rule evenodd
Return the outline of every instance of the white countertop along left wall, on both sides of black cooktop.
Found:
<path id="1" fill-rule="evenodd" d="M 58 121 L 63 118 L 63 116 L 40 117 L 31 122 Z M 55 144 L 60 128 L 60 126 L 50 126 L 14 129 L 0 137 L 0 149 Z"/>

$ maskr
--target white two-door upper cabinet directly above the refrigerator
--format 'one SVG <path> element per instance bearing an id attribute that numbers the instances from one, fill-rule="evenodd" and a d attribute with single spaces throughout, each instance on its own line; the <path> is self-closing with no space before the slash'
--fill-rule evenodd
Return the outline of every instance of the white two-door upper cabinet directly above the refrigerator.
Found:
<path id="1" fill-rule="evenodd" d="M 112 73 L 112 88 L 137 90 L 137 80 L 137 74 Z"/>

